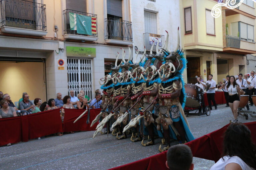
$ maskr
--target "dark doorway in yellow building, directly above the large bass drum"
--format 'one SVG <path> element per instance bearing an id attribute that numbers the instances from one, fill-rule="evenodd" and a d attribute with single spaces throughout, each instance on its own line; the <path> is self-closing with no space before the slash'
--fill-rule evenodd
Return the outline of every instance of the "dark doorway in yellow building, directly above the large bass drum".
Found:
<path id="1" fill-rule="evenodd" d="M 186 57 L 187 59 L 187 83 L 196 84 L 196 76 L 200 75 L 200 58 Z"/>

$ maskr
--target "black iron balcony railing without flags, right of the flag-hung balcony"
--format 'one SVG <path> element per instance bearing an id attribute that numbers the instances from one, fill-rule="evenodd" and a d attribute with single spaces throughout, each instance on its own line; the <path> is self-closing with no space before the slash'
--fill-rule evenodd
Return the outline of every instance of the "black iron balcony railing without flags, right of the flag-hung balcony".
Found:
<path id="1" fill-rule="evenodd" d="M 132 22 L 116 18 L 105 18 L 105 39 L 132 41 Z"/>

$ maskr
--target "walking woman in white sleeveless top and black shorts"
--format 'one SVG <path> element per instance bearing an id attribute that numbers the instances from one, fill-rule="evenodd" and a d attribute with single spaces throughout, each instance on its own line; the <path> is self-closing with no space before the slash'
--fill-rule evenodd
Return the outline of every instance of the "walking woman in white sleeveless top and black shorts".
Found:
<path id="1" fill-rule="evenodd" d="M 238 121 L 237 119 L 237 109 L 240 103 L 240 87 L 239 85 L 237 85 L 236 81 L 235 81 L 235 77 L 234 76 L 230 76 L 229 78 L 229 83 L 227 84 L 227 89 L 229 92 L 229 106 L 231 108 L 231 111 L 234 115 L 235 120 L 233 120 L 232 122 L 235 123 Z"/>

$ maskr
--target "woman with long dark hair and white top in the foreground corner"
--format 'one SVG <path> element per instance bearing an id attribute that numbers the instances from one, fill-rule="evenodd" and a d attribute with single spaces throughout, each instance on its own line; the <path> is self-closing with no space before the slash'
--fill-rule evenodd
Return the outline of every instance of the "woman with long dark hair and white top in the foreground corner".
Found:
<path id="1" fill-rule="evenodd" d="M 242 123 L 230 124 L 223 142 L 223 156 L 210 170 L 256 169 L 256 146 L 247 126 Z"/>

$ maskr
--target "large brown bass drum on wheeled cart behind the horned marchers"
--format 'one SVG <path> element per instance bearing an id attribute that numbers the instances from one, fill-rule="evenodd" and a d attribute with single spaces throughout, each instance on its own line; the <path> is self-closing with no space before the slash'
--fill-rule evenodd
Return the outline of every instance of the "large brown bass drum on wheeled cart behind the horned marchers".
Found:
<path id="1" fill-rule="evenodd" d="M 185 106 L 193 108 L 193 109 L 186 109 L 186 107 L 184 108 L 184 113 L 186 116 L 188 116 L 188 115 L 201 116 L 201 115 L 205 115 L 205 114 L 207 116 L 209 116 L 211 114 L 211 110 L 210 110 L 209 106 L 205 107 L 205 113 L 203 113 L 203 108 L 201 109 L 201 112 L 198 109 L 198 107 L 202 107 L 201 99 L 202 99 L 202 95 L 204 95 L 204 91 L 202 88 L 200 88 L 196 85 L 193 85 L 193 84 L 186 83 L 185 91 L 187 94 Z M 190 111 L 195 111 L 195 112 L 189 113 Z"/>

